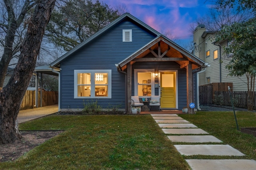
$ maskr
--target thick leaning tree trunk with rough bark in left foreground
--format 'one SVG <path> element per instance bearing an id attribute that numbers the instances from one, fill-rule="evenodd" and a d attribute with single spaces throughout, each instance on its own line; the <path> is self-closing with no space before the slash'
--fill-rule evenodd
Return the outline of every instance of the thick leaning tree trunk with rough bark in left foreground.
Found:
<path id="1" fill-rule="evenodd" d="M 8 84 L 0 90 L 0 144 L 13 143 L 21 136 L 18 112 L 36 65 L 45 27 L 56 0 L 38 0 L 28 31 L 20 49 L 20 57 Z"/>

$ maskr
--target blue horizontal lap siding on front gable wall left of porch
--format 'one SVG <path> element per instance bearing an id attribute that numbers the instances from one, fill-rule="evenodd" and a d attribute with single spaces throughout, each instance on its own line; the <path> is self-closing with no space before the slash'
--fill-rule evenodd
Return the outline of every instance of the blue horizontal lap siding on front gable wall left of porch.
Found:
<path id="1" fill-rule="evenodd" d="M 132 29 L 132 42 L 122 42 L 122 29 Z M 124 21 L 113 29 L 97 37 L 61 63 L 61 108 L 82 109 L 84 102 L 96 99 L 74 99 L 74 70 L 112 70 L 111 99 L 98 99 L 102 108 L 117 106 L 125 108 L 125 74 L 117 71 L 115 64 L 140 49 L 154 39 L 130 21 Z"/>

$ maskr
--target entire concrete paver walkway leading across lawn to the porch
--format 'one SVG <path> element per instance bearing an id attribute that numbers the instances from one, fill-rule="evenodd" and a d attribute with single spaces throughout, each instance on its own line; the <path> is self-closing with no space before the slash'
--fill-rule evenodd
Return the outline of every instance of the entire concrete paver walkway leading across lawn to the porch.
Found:
<path id="1" fill-rule="evenodd" d="M 172 142 L 202 143 L 201 145 L 174 145 L 182 155 L 220 155 L 220 156 L 244 156 L 242 152 L 230 145 L 218 145 L 222 143 L 212 135 L 199 129 L 192 123 L 179 119 L 178 115 L 151 114 L 156 123 Z M 172 118 L 175 117 L 175 118 Z M 186 135 L 183 135 L 186 134 Z M 200 134 L 200 135 L 199 135 Z M 213 143 L 214 145 L 204 145 Z M 217 143 L 217 144 L 216 144 Z M 248 159 L 186 159 L 192 170 L 255 170 L 256 161 Z"/>

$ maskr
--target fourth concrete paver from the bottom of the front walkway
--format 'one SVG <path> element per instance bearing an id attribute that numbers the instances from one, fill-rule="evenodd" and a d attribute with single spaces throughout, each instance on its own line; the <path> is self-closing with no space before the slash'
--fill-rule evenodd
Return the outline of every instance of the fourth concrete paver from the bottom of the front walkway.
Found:
<path id="1" fill-rule="evenodd" d="M 166 134 L 209 134 L 199 128 L 176 128 L 176 129 L 162 129 Z"/>

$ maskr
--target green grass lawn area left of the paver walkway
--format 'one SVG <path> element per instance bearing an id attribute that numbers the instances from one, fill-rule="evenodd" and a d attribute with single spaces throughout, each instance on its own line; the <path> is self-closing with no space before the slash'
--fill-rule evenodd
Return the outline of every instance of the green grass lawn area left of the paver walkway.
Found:
<path id="1" fill-rule="evenodd" d="M 52 115 L 20 130 L 64 129 L 0 169 L 190 169 L 150 115 Z"/>

